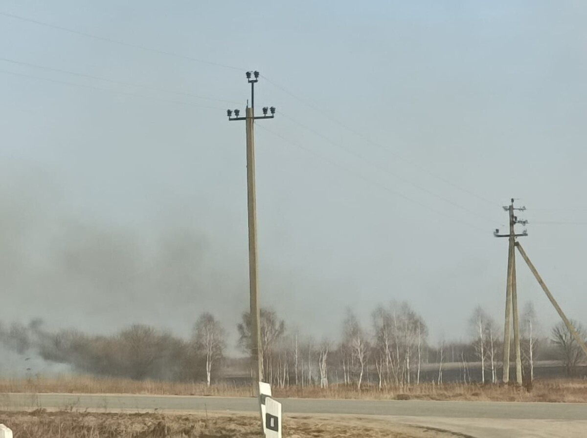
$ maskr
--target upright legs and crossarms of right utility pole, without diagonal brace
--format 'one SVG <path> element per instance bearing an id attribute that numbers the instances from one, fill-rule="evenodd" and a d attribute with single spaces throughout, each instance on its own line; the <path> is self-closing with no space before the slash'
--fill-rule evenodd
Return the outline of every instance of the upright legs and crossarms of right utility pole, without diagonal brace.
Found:
<path id="1" fill-rule="evenodd" d="M 495 237 L 507 237 L 509 239 L 508 245 L 508 275 L 507 286 L 505 289 L 505 324 L 504 324 L 504 358 L 503 358 L 503 375 L 504 383 L 510 381 L 510 340 L 511 340 L 511 316 L 513 313 L 514 323 L 514 350 L 515 350 L 515 365 L 516 365 L 516 383 L 522 384 L 522 357 L 519 348 L 519 318 L 518 318 L 518 296 L 517 284 L 515 275 L 515 239 L 517 237 L 527 236 L 528 232 L 524 230 L 521 234 L 515 234 L 516 224 L 527 224 L 528 221 L 518 220 L 514 211 L 524 211 L 525 207 L 515 208 L 514 199 L 511 199 L 511 204 L 505 206 L 504 210 L 508 212 L 510 218 L 510 232 L 509 234 L 499 234 L 500 230 L 495 230 Z"/>

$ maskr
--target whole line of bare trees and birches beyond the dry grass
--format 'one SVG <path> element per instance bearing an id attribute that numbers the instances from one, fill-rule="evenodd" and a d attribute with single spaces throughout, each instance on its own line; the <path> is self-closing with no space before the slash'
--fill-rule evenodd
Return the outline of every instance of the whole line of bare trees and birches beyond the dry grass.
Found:
<path id="1" fill-rule="evenodd" d="M 423 317 L 406 302 L 377 306 L 370 324 L 362 324 L 352 310 L 341 321 L 340 338 L 317 340 L 288 330 L 275 310 L 261 309 L 262 369 L 264 380 L 276 386 L 320 386 L 332 382 L 361 389 L 441 384 L 451 380 L 498 382 L 503 348 L 502 327 L 477 307 L 468 320 L 463 341 L 429 341 Z M 586 331 L 573 321 L 581 336 Z M 539 324 L 531 303 L 520 318 L 523 374 L 534 379 L 537 360 L 561 361 L 573 375 L 585 358 L 564 324 L 549 336 Z M 248 312 L 237 324 L 237 347 L 243 355 L 251 348 Z M 41 320 L 28 325 L 0 325 L 0 344 L 19 354 L 34 351 L 46 361 L 68 364 L 75 372 L 102 377 L 204 381 L 210 385 L 227 363 L 227 331 L 210 313 L 201 314 L 187 339 L 144 324 L 133 324 L 111 335 L 79 330 L 49 331 Z M 513 351 L 513 349 L 512 349 Z"/>

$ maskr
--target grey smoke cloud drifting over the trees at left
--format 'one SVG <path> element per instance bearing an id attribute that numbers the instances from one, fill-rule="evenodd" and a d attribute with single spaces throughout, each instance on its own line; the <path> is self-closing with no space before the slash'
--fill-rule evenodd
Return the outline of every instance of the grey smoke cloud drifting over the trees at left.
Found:
<path id="1" fill-rule="evenodd" d="M 46 174 L 7 171 L 0 182 L 1 374 L 26 368 L 104 374 L 112 365 L 115 374 L 139 378 L 122 363 L 93 368 L 92 362 L 96 345 L 123 351 L 125 330 L 147 327 L 151 344 L 167 350 L 139 374 L 162 376 L 200 313 L 215 313 L 229 327 L 244 307 L 245 300 L 232 303 L 238 280 L 225 275 L 234 272 L 234 260 L 218 263 L 187 209 L 156 212 L 134 226 L 69 206 L 66 189 Z M 230 309 L 218 312 L 226 303 Z"/>

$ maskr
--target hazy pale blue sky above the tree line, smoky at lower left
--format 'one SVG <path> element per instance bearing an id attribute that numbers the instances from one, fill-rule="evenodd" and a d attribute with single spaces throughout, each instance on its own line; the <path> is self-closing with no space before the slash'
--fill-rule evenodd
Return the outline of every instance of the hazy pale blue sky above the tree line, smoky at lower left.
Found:
<path id="1" fill-rule="evenodd" d="M 501 323 L 507 241 L 492 231 L 515 197 L 525 249 L 581 319 L 583 2 L 12 0 L 0 12 L 209 61 L 0 15 L 2 320 L 185 335 L 208 310 L 234 331 L 248 306 L 245 127 L 225 108 L 244 109 L 247 69 L 264 75 L 257 107 L 278 108 L 255 132 L 264 306 L 316 336 L 335 337 L 348 306 L 368 324 L 391 299 L 409 300 L 433 340 L 466 337 L 478 304 Z M 518 277 L 548 328 L 556 313 L 521 258 Z"/>

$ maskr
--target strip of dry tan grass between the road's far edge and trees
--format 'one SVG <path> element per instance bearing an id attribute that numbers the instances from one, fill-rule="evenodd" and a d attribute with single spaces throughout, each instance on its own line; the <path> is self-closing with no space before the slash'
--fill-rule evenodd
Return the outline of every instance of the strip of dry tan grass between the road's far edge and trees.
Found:
<path id="1" fill-rule="evenodd" d="M 27 380 L 0 380 L 0 393 L 129 393 L 149 395 L 212 395 L 249 397 L 249 386 L 179 382 L 133 381 L 127 379 L 95 377 L 62 377 L 54 379 L 35 378 Z M 356 386 L 330 385 L 328 389 L 316 386 L 308 388 L 274 388 L 278 398 L 328 398 L 328 399 L 422 399 L 422 400 L 480 400 L 480 401 L 524 401 L 524 402 L 587 402 L 585 380 L 539 380 L 531 391 L 507 385 L 443 384 L 424 383 L 386 388 L 379 391 L 376 386 L 366 385 L 362 391 Z"/>

